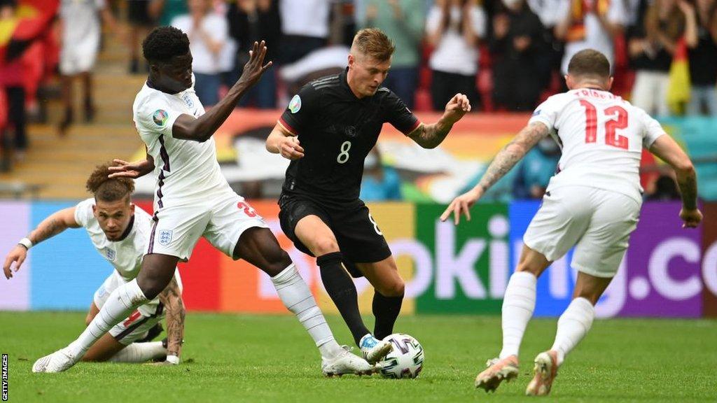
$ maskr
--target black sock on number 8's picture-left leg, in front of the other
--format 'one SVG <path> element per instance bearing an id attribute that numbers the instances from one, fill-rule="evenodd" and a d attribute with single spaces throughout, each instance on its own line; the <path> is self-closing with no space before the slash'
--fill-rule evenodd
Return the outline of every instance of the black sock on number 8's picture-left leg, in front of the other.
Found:
<path id="1" fill-rule="evenodd" d="M 346 270 L 343 270 L 341 260 L 343 260 L 341 252 L 331 252 L 317 257 L 316 263 L 319 266 L 321 281 L 323 282 L 323 287 L 326 288 L 326 293 L 338 308 L 343 321 L 346 322 L 348 329 L 351 330 L 353 341 L 358 346 L 361 337 L 371 332 L 364 325 L 364 320 L 361 319 L 359 294 L 356 293 L 356 285 L 348 277 Z"/>

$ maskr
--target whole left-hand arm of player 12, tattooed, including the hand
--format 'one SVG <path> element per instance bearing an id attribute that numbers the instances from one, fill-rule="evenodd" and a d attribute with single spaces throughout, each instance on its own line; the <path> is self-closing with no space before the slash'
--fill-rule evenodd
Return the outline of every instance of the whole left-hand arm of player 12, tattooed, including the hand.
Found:
<path id="1" fill-rule="evenodd" d="M 470 221 L 470 207 L 473 207 L 473 204 L 490 189 L 490 186 L 493 186 L 495 182 L 503 178 L 508 171 L 513 169 L 513 166 L 516 166 L 518 161 L 521 161 L 521 159 L 526 156 L 526 153 L 528 153 L 538 141 L 546 138 L 549 133 L 548 126 L 541 122 L 533 122 L 523 128 L 523 130 L 518 133 L 518 136 L 513 138 L 513 141 L 503 147 L 503 149 L 498 152 L 498 155 L 493 158 L 493 161 L 488 166 L 488 169 L 478 184 L 475 185 L 473 189 L 457 196 L 451 201 L 451 204 L 445 212 L 441 214 L 441 221 L 445 221 L 450 217 L 451 212 L 453 213 L 456 225 L 460 221 L 460 214 L 465 214 L 465 217 Z"/>

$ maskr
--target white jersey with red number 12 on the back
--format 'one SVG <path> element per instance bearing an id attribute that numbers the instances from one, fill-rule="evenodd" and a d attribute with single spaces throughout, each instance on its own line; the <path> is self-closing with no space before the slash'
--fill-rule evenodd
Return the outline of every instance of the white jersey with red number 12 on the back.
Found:
<path id="1" fill-rule="evenodd" d="M 592 186 L 642 202 L 642 147 L 649 148 L 665 134 L 644 110 L 607 91 L 580 88 L 538 105 L 533 122 L 548 126 L 563 151 L 548 191 L 566 185 Z"/>

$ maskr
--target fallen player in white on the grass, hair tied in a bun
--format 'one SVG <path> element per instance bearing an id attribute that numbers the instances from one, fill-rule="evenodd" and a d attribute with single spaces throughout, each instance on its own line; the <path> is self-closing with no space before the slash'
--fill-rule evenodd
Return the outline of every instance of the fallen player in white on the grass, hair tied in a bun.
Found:
<path id="1" fill-rule="evenodd" d="M 85 228 L 95 249 L 115 267 L 95 292 L 90 312 L 87 313 L 87 324 L 97 315 L 115 288 L 136 278 L 152 226 L 152 217 L 142 209 L 136 209 L 130 200 L 134 191 L 133 180 L 108 178 L 108 167 L 109 164 L 98 166 L 87 179 L 87 191 L 90 191 L 92 198 L 80 201 L 75 207 L 50 214 L 27 237 L 20 240 L 7 255 L 3 265 L 5 277 L 11 278 L 12 272 L 19 270 L 33 245 L 54 237 L 67 228 Z M 135 343 L 146 338 L 147 333 L 160 328 L 159 322 L 165 314 L 168 336 L 166 349 L 161 341 Z M 166 363 L 177 364 L 183 333 L 184 303 L 181 300 L 181 280 L 179 272 L 175 272 L 174 278 L 158 298 L 139 306 L 128 318 L 104 333 L 82 360 L 143 362 L 166 357 Z M 153 336 L 156 336 L 156 333 Z M 44 361 L 39 364 L 42 365 Z M 33 370 L 35 369 L 33 367 Z"/>

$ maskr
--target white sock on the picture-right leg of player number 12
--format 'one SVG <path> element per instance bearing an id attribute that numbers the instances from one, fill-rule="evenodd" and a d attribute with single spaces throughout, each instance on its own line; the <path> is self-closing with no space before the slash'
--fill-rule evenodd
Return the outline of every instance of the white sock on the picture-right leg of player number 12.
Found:
<path id="1" fill-rule="evenodd" d="M 558 331 L 551 350 L 558 352 L 558 365 L 563 364 L 566 354 L 580 343 L 592 326 L 595 308 L 585 298 L 575 298 L 558 319 Z"/>

